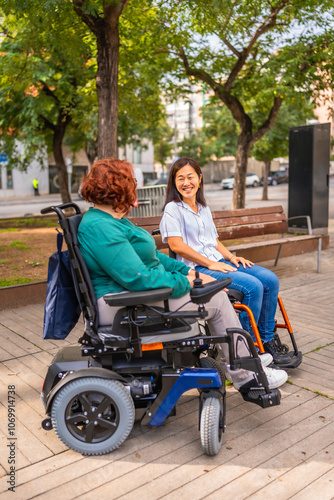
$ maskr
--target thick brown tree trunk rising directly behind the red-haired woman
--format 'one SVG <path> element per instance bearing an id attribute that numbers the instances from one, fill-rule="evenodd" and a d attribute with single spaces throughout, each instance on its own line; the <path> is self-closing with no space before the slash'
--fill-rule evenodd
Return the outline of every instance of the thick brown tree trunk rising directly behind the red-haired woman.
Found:
<path id="1" fill-rule="evenodd" d="M 118 20 L 101 22 L 97 33 L 96 89 L 99 102 L 97 155 L 117 158 L 118 120 Z"/>

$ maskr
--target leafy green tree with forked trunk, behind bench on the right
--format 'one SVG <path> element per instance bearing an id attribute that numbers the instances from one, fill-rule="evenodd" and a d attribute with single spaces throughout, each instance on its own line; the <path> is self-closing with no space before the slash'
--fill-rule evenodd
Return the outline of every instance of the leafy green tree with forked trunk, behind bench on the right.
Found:
<path id="1" fill-rule="evenodd" d="M 161 0 L 173 81 L 205 83 L 238 123 L 233 208 L 245 204 L 251 147 L 296 93 L 333 88 L 334 7 L 329 0 Z M 180 62 L 179 65 L 177 63 Z"/>

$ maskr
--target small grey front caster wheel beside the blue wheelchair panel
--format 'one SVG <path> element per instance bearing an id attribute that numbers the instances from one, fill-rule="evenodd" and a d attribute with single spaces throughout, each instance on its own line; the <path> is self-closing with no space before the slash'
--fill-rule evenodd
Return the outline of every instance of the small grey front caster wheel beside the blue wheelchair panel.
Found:
<path id="1" fill-rule="evenodd" d="M 217 455 L 223 443 L 224 407 L 219 398 L 207 398 L 204 402 L 200 435 L 201 447 L 210 456 Z"/>

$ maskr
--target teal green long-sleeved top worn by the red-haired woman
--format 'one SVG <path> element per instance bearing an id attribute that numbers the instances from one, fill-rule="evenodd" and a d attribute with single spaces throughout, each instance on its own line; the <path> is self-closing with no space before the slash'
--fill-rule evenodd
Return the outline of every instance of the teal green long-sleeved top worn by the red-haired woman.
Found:
<path id="1" fill-rule="evenodd" d="M 90 208 L 80 223 L 78 239 L 97 298 L 167 286 L 173 288 L 171 297 L 178 298 L 190 290 L 189 267 L 159 252 L 154 238 L 126 217 L 116 219 Z"/>

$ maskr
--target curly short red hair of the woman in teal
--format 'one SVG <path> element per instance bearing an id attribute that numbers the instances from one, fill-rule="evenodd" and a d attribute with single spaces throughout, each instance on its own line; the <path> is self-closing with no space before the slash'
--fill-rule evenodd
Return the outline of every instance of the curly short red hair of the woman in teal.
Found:
<path id="1" fill-rule="evenodd" d="M 81 184 L 81 195 L 91 203 L 110 205 L 127 214 L 137 199 L 136 186 L 131 163 L 107 158 L 94 163 Z"/>

